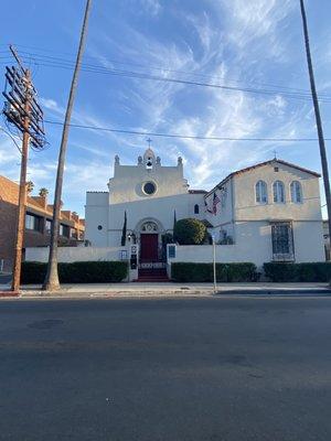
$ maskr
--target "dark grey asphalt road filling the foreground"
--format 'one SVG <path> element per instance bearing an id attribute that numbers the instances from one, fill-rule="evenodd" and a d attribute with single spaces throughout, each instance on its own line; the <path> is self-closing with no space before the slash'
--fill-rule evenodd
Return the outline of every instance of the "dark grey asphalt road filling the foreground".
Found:
<path id="1" fill-rule="evenodd" d="M 0 302 L 0 439 L 331 439 L 331 299 Z"/>

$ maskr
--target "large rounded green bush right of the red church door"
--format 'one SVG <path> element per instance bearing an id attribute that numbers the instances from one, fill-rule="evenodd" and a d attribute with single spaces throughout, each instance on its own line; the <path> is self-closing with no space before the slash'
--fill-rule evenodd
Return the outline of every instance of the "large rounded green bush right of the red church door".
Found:
<path id="1" fill-rule="evenodd" d="M 173 238 L 180 245 L 201 245 L 206 238 L 206 227 L 197 219 L 180 219 L 174 225 Z"/>

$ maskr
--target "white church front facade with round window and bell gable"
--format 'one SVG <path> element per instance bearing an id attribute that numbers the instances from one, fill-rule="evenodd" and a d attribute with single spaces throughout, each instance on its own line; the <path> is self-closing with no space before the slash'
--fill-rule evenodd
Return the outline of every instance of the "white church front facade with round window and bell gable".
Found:
<path id="1" fill-rule="evenodd" d="M 152 159 L 148 169 L 147 157 Z M 157 191 L 152 195 L 142 192 L 146 182 L 153 182 Z M 179 159 L 175 166 L 163 166 L 152 151 L 148 150 L 136 165 L 121 165 L 116 158 L 114 178 L 108 183 L 109 192 L 88 192 L 86 195 L 85 237 L 96 247 L 120 245 L 121 232 L 127 212 L 127 232 L 135 232 L 139 238 L 139 226 L 143 220 L 154 220 L 159 233 L 172 232 L 174 212 L 177 219 L 195 217 L 203 219 L 204 193 L 190 193 L 183 178 L 183 164 Z M 194 214 L 199 204 L 200 213 Z M 138 229 L 137 229 L 138 228 Z M 159 235 L 159 240 L 161 236 Z"/>

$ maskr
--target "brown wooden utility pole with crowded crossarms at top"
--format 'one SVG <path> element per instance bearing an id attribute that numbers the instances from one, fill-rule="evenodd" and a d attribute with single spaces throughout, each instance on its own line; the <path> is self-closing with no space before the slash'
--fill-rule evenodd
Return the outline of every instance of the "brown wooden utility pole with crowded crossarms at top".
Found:
<path id="1" fill-rule="evenodd" d="M 11 290 L 17 292 L 20 288 L 22 246 L 25 224 L 26 205 L 26 168 L 29 146 L 42 149 L 44 140 L 43 112 L 35 99 L 35 88 L 31 80 L 31 72 L 24 68 L 13 46 L 10 51 L 19 68 L 6 67 L 6 88 L 2 95 L 6 98 L 3 115 L 10 125 L 15 126 L 22 133 L 21 176 L 19 190 L 19 206 L 17 217 L 15 254 Z"/>

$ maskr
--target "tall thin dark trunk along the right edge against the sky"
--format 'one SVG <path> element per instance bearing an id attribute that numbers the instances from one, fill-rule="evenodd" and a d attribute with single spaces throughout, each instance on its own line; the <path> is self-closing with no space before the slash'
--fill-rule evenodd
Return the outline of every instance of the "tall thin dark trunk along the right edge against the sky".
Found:
<path id="1" fill-rule="evenodd" d="M 321 114 L 320 114 L 319 99 L 318 99 L 313 68 L 312 68 L 309 34 L 308 34 L 308 23 L 307 23 L 307 15 L 306 15 L 303 0 L 300 0 L 300 7 L 301 7 L 301 15 L 302 15 L 302 24 L 303 24 L 303 35 L 305 35 L 311 96 L 312 96 L 312 101 L 313 101 L 316 125 L 317 125 L 318 137 L 319 137 L 320 157 L 321 157 L 321 163 L 322 163 L 324 192 L 325 192 L 325 201 L 327 201 L 327 209 L 328 209 L 329 240 L 330 240 L 330 248 L 331 248 L 331 235 L 330 235 L 331 234 L 331 193 L 330 193 L 328 159 L 327 159 L 325 142 L 324 142 L 324 136 L 323 136 L 323 127 L 322 127 L 322 119 L 321 119 Z"/>

